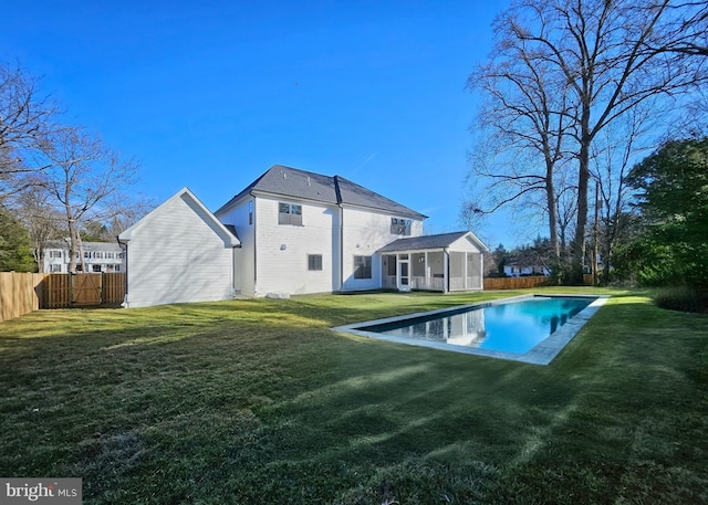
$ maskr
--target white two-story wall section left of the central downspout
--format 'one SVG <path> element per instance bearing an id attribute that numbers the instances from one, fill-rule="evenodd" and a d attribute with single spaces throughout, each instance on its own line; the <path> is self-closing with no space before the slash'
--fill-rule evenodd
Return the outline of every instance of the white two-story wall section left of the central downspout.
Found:
<path id="1" fill-rule="evenodd" d="M 302 225 L 278 224 L 278 204 L 302 206 Z M 256 199 L 256 296 L 336 291 L 339 208 L 298 200 Z M 308 255 L 322 255 L 322 271 L 308 270 Z"/>

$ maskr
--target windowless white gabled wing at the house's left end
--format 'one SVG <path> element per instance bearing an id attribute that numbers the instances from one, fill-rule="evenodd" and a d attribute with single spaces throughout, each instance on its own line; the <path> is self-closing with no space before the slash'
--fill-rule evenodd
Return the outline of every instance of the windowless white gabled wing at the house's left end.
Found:
<path id="1" fill-rule="evenodd" d="M 229 299 L 236 231 L 187 188 L 118 235 L 126 248 L 126 307 Z"/>

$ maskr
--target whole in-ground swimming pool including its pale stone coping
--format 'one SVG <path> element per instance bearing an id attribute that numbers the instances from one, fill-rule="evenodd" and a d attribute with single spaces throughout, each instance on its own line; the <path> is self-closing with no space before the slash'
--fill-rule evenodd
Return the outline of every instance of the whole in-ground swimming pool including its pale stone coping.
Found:
<path id="1" fill-rule="evenodd" d="M 437 349 L 548 365 L 606 296 L 525 295 L 333 328 Z"/>

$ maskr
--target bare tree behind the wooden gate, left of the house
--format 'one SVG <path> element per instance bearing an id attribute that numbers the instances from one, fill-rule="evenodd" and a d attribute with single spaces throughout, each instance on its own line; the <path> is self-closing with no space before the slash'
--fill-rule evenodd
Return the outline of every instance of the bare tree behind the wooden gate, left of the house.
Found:
<path id="1" fill-rule="evenodd" d="M 122 160 L 98 137 L 77 127 L 51 136 L 41 152 L 48 167 L 39 177 L 64 213 L 71 250 L 69 270 L 75 273 L 82 223 L 115 215 L 116 208 L 110 203 L 134 182 L 137 164 Z"/>

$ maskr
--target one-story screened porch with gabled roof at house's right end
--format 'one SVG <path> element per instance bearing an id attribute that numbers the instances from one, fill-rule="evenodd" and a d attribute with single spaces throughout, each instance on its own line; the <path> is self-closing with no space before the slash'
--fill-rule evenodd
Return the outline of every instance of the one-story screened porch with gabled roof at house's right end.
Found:
<path id="1" fill-rule="evenodd" d="M 442 293 L 483 290 L 489 251 L 472 232 L 398 239 L 377 251 L 382 256 L 382 287 Z"/>

